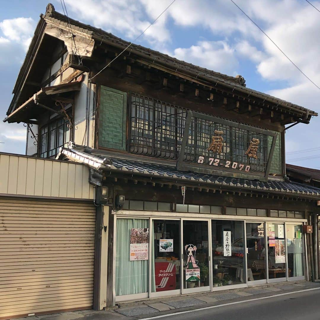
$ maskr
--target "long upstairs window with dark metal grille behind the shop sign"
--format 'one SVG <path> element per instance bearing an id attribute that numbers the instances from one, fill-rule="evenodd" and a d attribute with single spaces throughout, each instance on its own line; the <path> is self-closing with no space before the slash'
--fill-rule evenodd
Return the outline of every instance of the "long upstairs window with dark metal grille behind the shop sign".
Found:
<path id="1" fill-rule="evenodd" d="M 136 93 L 130 98 L 129 151 L 177 160 L 189 110 Z M 226 168 L 229 162 L 230 168 L 237 163 L 244 165 L 243 170 L 250 166 L 251 172 L 262 174 L 267 167 L 273 137 L 266 131 L 260 133 L 257 127 L 252 126 L 252 130 L 250 127 L 223 118 L 211 120 L 210 116 L 192 116 L 183 161 L 195 163 L 199 156 L 211 157 L 219 159 L 219 164 L 226 164 Z M 211 145 L 214 136 L 221 142 L 219 150 Z M 281 174 L 281 136 L 279 133 L 276 136 L 270 173 Z"/>

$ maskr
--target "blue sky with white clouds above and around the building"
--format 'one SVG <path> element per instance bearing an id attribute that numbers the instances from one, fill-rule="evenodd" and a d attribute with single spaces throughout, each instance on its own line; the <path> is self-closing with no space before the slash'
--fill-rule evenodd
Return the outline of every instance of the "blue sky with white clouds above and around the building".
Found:
<path id="1" fill-rule="evenodd" d="M 163 0 L 65 0 L 69 16 L 133 40 L 171 2 Z M 46 1 L 0 0 L 0 80 L 2 119 Z M 59 1 L 52 2 L 62 12 Z M 303 0 L 237 0 L 284 52 L 320 86 L 320 13 Z M 320 2 L 313 1 L 320 9 Z M 320 90 L 300 74 L 276 47 L 228 0 L 176 0 L 138 44 L 231 76 L 248 87 L 320 111 Z M 286 133 L 287 162 L 320 167 L 320 116 Z M 25 152 L 25 128 L 0 124 L 0 151 Z M 317 156 L 310 160 L 300 158 Z M 292 160 L 293 159 L 293 160 Z M 296 160 L 298 159 L 298 160 Z"/>

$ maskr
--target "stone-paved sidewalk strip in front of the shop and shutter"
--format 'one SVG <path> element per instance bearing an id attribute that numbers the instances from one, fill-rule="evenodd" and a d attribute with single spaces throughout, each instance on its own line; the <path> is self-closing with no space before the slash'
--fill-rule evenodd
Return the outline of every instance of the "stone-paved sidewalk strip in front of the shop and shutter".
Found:
<path id="1" fill-rule="evenodd" d="M 147 299 L 143 301 L 119 303 L 118 308 L 107 311 L 72 311 L 43 316 L 31 316 L 18 320 L 100 320 L 100 319 L 139 319 L 143 317 L 170 314 L 182 310 L 219 305 L 227 302 L 250 300 L 279 293 L 320 287 L 320 283 L 296 281 L 278 284 L 265 284 L 256 287 L 224 290 L 219 292 L 193 293 L 183 296 Z"/>

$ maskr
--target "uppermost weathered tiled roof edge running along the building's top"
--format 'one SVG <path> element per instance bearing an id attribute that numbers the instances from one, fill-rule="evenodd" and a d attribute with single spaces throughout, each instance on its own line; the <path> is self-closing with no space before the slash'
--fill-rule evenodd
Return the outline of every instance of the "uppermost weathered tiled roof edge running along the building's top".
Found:
<path id="1" fill-rule="evenodd" d="M 58 26 L 60 25 L 61 27 L 67 26 L 67 17 L 59 12 L 56 12 L 52 4 L 49 4 L 47 6 L 46 14 L 42 15 L 42 17 L 45 20 L 50 21 L 55 25 L 58 25 Z M 71 18 L 69 20 L 70 20 L 70 24 L 71 24 L 72 29 L 74 29 L 75 31 L 78 31 L 78 32 L 85 33 L 88 36 L 91 36 L 92 38 L 98 38 L 98 39 L 101 39 L 101 41 L 108 40 L 109 42 L 112 42 L 116 45 L 120 45 L 122 47 L 125 47 L 128 44 L 130 44 L 130 42 L 125 41 L 119 37 L 116 37 L 113 34 L 106 32 L 100 28 L 92 27 L 90 25 L 84 24 L 80 21 L 77 21 L 77 20 L 74 20 Z M 299 105 L 293 104 L 291 102 L 270 96 L 266 93 L 259 92 L 259 91 L 256 91 L 256 90 L 253 90 L 250 88 L 246 88 L 246 87 L 244 87 L 244 85 L 242 85 L 240 83 L 239 78 L 228 76 L 225 74 L 221 74 L 219 72 L 215 72 L 215 71 L 212 71 L 212 70 L 209 70 L 206 68 L 202 68 L 202 67 L 193 65 L 193 64 L 185 62 L 185 61 L 178 60 L 176 58 L 170 57 L 167 54 L 152 50 L 150 48 L 143 47 L 141 45 L 132 44 L 130 46 L 130 48 L 132 48 L 132 50 L 135 50 L 135 51 L 138 51 L 138 52 L 144 54 L 148 58 L 152 57 L 152 59 L 156 59 L 156 61 L 159 61 L 159 63 L 167 63 L 167 64 L 171 65 L 172 68 L 174 68 L 176 70 L 178 70 L 178 69 L 180 71 L 186 70 L 186 71 L 190 71 L 190 72 L 196 74 L 197 76 L 206 76 L 212 80 L 212 83 L 216 83 L 217 81 L 219 81 L 219 82 L 224 83 L 226 85 L 230 85 L 230 86 L 233 86 L 234 88 L 238 88 L 242 91 L 245 91 L 246 93 L 248 93 L 252 96 L 256 96 L 261 99 L 267 99 L 267 100 L 270 100 L 276 104 L 282 104 L 286 108 L 289 108 L 289 109 L 297 108 L 303 112 L 310 111 L 310 115 L 314 115 L 314 116 L 318 115 L 315 111 L 308 110 L 307 108 L 304 108 Z"/>

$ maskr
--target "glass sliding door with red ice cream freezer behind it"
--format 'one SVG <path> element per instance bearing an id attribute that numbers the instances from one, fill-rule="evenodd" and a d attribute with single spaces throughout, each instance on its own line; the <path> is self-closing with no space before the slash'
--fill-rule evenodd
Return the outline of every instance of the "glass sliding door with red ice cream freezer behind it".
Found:
<path id="1" fill-rule="evenodd" d="M 180 294 L 180 220 L 152 220 L 151 237 L 150 297 Z"/>

